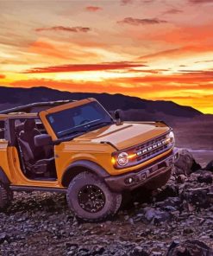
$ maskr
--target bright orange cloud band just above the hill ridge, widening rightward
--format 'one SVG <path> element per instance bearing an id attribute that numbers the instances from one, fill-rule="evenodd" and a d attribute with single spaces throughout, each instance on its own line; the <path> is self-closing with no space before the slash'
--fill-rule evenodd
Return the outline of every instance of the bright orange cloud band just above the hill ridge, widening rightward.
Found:
<path id="1" fill-rule="evenodd" d="M 184 92 L 185 90 L 211 91 L 213 71 L 189 72 L 188 74 L 148 74 L 141 77 L 110 78 L 102 81 L 78 81 L 78 80 L 17 80 L 10 83 L 10 86 L 50 86 L 53 88 L 67 89 L 74 92 L 107 92 L 138 94 L 153 93 L 157 97 L 159 93 Z M 165 96 L 166 96 L 165 94 Z"/>

